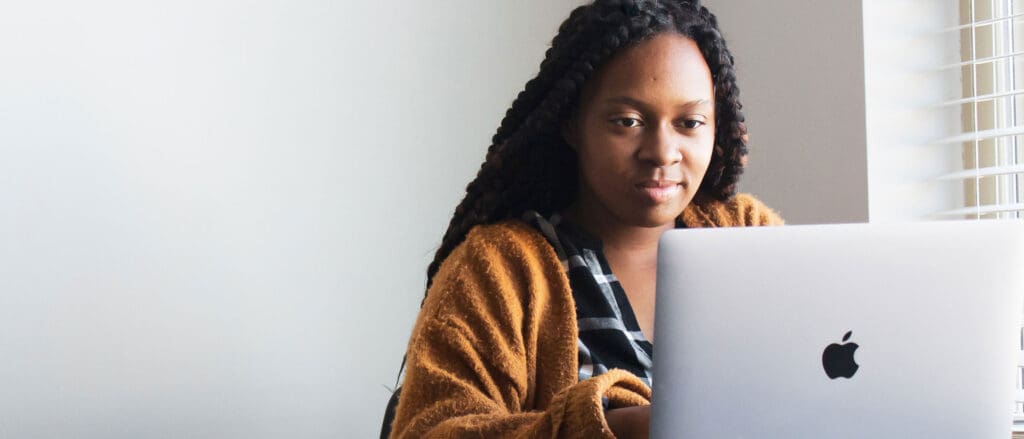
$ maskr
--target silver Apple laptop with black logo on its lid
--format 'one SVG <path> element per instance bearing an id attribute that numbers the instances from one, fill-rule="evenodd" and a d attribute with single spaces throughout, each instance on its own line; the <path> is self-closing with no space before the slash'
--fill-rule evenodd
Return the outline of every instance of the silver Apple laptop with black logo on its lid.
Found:
<path id="1" fill-rule="evenodd" d="M 1010 438 L 1024 221 L 673 230 L 651 437 Z"/>

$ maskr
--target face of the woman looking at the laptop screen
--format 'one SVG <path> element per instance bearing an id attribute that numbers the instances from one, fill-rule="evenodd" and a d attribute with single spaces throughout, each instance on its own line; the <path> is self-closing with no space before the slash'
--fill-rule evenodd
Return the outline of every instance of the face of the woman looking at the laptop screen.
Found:
<path id="1" fill-rule="evenodd" d="M 564 134 L 580 164 L 578 220 L 674 223 L 715 142 L 714 85 L 696 43 L 662 34 L 613 57 L 584 87 Z"/>

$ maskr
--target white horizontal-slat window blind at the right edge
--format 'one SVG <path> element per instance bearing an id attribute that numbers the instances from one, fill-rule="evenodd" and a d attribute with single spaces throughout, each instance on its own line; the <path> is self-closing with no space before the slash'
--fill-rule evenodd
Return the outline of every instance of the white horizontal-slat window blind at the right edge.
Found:
<path id="1" fill-rule="evenodd" d="M 958 184 L 961 206 L 946 218 L 1024 218 L 1024 0 L 959 0 L 961 133 L 939 141 L 958 147 L 962 169 L 940 181 Z M 1014 430 L 1024 431 L 1024 314 L 1020 333 Z"/>

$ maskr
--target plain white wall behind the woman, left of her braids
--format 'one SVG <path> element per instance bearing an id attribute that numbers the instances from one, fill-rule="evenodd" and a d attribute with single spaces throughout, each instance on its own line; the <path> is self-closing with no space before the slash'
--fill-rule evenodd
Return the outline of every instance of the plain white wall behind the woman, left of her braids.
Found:
<path id="1" fill-rule="evenodd" d="M 371 437 L 577 1 L 0 5 L 0 437 Z"/>

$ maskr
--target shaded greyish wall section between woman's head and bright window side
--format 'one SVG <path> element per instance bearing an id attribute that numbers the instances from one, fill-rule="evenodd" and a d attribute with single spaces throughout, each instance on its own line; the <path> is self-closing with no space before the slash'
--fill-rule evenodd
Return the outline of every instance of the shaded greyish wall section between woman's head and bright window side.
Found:
<path id="1" fill-rule="evenodd" d="M 867 221 L 860 0 L 705 0 L 736 58 L 740 188 L 790 224 Z"/>

